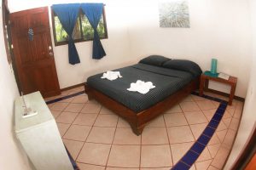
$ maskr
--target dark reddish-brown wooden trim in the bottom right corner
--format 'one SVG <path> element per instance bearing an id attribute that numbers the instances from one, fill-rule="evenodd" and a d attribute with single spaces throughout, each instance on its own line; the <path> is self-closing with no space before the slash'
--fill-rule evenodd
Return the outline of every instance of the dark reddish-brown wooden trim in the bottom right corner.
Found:
<path id="1" fill-rule="evenodd" d="M 236 161 L 234 162 L 233 166 L 230 169 L 236 170 L 236 169 L 243 169 L 243 167 L 246 167 L 247 162 L 250 161 L 250 159 L 253 156 L 253 152 L 255 154 L 255 148 L 256 148 L 256 126 L 254 125 L 253 131 L 250 137 L 247 139 L 246 146 L 242 150 L 242 153 L 240 154 L 240 156 L 236 158 Z"/>

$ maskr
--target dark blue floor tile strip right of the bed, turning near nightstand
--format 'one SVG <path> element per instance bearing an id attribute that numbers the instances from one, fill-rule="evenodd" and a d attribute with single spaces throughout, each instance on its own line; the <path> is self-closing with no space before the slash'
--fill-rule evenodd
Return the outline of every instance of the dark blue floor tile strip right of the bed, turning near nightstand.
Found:
<path id="1" fill-rule="evenodd" d="M 199 95 L 195 92 L 191 94 Z M 208 123 L 203 133 L 201 133 L 201 136 L 197 139 L 197 141 L 195 141 L 195 144 L 193 144 L 189 151 L 180 159 L 180 161 L 178 161 L 177 164 L 172 167 L 172 170 L 189 170 L 189 168 L 195 163 L 196 159 L 201 155 L 201 152 L 206 148 L 228 105 L 228 102 L 224 101 L 223 99 L 213 98 L 207 95 L 203 95 L 202 97 L 219 102 L 220 104 L 218 109 L 214 116 L 212 116 L 212 120 Z"/>

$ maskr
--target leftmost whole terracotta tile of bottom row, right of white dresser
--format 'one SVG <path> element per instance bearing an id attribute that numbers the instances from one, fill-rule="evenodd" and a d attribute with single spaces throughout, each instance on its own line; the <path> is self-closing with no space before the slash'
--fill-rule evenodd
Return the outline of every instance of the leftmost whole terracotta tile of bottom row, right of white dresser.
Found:
<path id="1" fill-rule="evenodd" d="M 85 143 L 77 161 L 105 166 L 108 161 L 108 154 L 111 144 Z"/>

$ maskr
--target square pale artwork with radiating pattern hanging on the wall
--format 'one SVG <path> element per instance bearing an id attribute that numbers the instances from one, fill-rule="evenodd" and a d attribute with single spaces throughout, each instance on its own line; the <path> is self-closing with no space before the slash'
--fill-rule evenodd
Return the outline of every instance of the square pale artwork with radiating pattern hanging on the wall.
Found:
<path id="1" fill-rule="evenodd" d="M 189 28 L 188 0 L 160 0 L 160 27 Z"/>

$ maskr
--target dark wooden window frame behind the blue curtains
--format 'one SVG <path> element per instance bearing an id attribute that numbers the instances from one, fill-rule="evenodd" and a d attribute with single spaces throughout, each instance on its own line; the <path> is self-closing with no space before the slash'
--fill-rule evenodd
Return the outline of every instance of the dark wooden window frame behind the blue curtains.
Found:
<path id="1" fill-rule="evenodd" d="M 84 14 L 82 12 L 82 9 L 80 8 L 79 9 L 79 27 L 80 27 L 80 31 L 81 31 L 81 38 L 79 39 L 75 39 L 73 40 L 75 43 L 76 42 L 90 42 L 90 41 L 93 41 L 93 38 L 91 39 L 87 39 L 87 40 L 84 40 L 83 39 L 83 29 L 82 29 L 82 24 L 81 24 L 81 14 Z M 68 44 L 68 41 L 62 41 L 62 42 L 57 42 L 57 39 L 56 39 L 56 31 L 55 31 L 55 12 L 53 11 L 53 9 L 51 8 L 51 21 L 52 21 L 52 30 L 53 30 L 53 35 L 54 35 L 54 40 L 55 40 L 55 46 L 61 46 L 61 45 L 66 45 Z M 105 7 L 103 6 L 102 8 L 102 18 L 103 18 L 103 22 L 104 22 L 104 31 L 105 31 L 105 34 L 106 34 L 106 37 L 101 37 L 100 39 L 108 39 L 108 29 L 107 29 L 107 20 L 106 20 L 106 14 L 105 14 Z"/>

